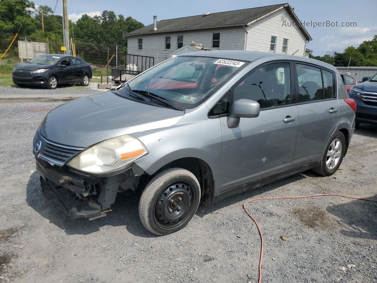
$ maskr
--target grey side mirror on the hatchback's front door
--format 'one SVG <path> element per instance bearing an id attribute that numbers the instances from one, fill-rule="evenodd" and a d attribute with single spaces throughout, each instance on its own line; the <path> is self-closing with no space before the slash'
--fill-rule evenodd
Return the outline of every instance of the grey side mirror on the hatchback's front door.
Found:
<path id="1" fill-rule="evenodd" d="M 259 116 L 259 103 L 250 99 L 239 99 L 233 102 L 227 123 L 229 128 L 236 128 L 240 118 L 255 118 Z"/>

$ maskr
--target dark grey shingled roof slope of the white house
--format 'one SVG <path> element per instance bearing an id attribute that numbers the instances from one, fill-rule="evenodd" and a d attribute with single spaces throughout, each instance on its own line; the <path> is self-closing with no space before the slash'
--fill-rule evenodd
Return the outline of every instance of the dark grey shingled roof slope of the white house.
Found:
<path id="1" fill-rule="evenodd" d="M 223 28 L 228 26 L 242 26 L 263 17 L 264 15 L 279 9 L 288 3 L 249 8 L 228 12 L 218 12 L 206 16 L 197 15 L 183 18 L 173 18 L 157 22 L 157 30 L 153 31 L 153 24 L 136 29 L 135 31 L 124 34 L 124 36 L 140 34 L 157 34 L 165 32 L 175 32 L 194 29 Z"/>

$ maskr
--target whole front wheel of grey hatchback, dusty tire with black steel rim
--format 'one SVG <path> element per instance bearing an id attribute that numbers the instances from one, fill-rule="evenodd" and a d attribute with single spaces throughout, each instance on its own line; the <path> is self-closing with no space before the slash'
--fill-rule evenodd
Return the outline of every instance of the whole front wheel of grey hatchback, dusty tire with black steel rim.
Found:
<path id="1" fill-rule="evenodd" d="M 171 168 L 157 174 L 146 186 L 139 202 L 144 227 L 156 235 L 184 228 L 198 209 L 198 179 L 190 171 Z"/>

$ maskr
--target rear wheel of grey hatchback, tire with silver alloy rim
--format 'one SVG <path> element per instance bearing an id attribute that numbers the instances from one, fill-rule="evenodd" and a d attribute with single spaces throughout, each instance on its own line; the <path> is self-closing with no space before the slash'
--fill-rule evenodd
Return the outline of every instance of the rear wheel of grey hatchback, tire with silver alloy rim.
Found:
<path id="1" fill-rule="evenodd" d="M 322 176 L 331 176 L 339 168 L 342 163 L 346 150 L 346 139 L 342 132 L 337 134 L 326 145 L 321 163 L 313 171 Z"/>

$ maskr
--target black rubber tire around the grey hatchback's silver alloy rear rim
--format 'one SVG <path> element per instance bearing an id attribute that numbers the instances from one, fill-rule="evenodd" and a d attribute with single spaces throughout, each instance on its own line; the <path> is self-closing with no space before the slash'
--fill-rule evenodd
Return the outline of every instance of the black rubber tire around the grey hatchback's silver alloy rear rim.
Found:
<path id="1" fill-rule="evenodd" d="M 335 141 L 335 144 L 337 144 L 337 141 L 340 141 L 340 145 L 341 145 L 341 149 L 339 151 L 334 151 L 334 149 L 332 149 L 334 152 L 332 155 L 331 153 L 331 148 L 334 148 L 333 146 L 333 142 Z M 322 160 L 320 162 L 320 165 L 317 166 L 316 168 L 313 168 L 312 170 L 319 174 L 319 175 L 322 175 L 322 176 L 331 176 L 333 175 L 339 168 L 340 164 L 342 163 L 342 160 L 343 160 L 343 157 L 344 157 L 344 153 L 346 151 L 346 138 L 344 137 L 343 133 L 342 132 L 337 132 L 333 138 L 331 138 L 331 140 L 328 142 L 328 144 L 326 145 L 326 148 L 325 148 L 325 152 L 323 153 L 323 157 L 322 157 Z M 328 156 L 328 152 L 331 153 L 329 156 Z M 328 167 L 328 165 L 326 164 L 326 161 L 330 161 L 329 163 L 331 164 L 331 158 L 334 158 L 336 155 L 337 155 L 337 152 L 339 152 L 340 156 L 339 156 L 339 159 L 337 159 L 337 161 L 334 163 L 334 167 L 331 168 L 331 166 Z M 336 158 L 334 158 L 336 160 Z"/>

